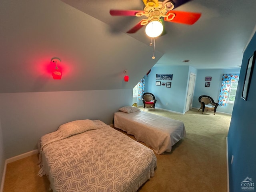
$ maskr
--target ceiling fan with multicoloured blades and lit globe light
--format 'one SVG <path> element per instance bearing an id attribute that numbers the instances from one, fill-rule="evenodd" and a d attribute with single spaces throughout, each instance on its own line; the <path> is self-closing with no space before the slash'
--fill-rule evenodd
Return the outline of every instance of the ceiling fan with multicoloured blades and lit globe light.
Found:
<path id="1" fill-rule="evenodd" d="M 175 22 L 175 23 L 181 23 L 181 24 L 188 24 L 192 25 L 194 24 L 201 16 L 201 13 L 193 13 L 193 12 L 184 12 L 184 11 L 174 11 L 174 8 L 177 8 L 178 6 L 189 2 L 190 0 L 164 0 L 163 2 L 158 0 L 143 0 L 145 4 L 144 10 L 110 10 L 110 15 L 112 16 L 146 16 L 146 19 L 142 19 L 140 22 L 138 22 L 134 27 L 132 27 L 130 30 L 127 31 L 127 33 L 136 33 L 140 28 L 147 24 L 152 24 L 156 22 L 163 23 L 164 21 L 167 22 Z M 154 24 L 155 25 L 155 24 Z M 150 36 L 147 33 L 147 28 L 150 28 L 152 30 L 152 26 L 148 27 L 146 26 L 146 34 Z M 158 28 L 158 27 L 154 27 Z M 163 28 L 160 26 L 160 28 Z M 162 29 L 163 30 L 163 29 Z M 159 32 L 158 32 L 159 33 Z M 160 32 L 162 34 L 162 31 Z M 158 34 L 157 36 L 159 36 Z M 154 36 L 150 37 L 156 37 L 156 34 Z"/>

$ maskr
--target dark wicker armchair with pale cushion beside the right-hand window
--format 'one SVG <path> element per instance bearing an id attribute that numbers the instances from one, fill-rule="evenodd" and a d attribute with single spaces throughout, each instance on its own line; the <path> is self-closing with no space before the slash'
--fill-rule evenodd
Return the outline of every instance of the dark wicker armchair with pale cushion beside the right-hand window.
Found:
<path id="1" fill-rule="evenodd" d="M 207 96 L 207 95 L 201 95 L 198 98 L 198 101 L 201 104 L 200 109 L 203 110 L 202 114 L 204 113 L 204 111 L 214 111 L 214 115 L 215 115 L 216 109 L 217 109 L 219 104 L 214 102 L 213 98 L 211 98 L 210 96 Z"/>

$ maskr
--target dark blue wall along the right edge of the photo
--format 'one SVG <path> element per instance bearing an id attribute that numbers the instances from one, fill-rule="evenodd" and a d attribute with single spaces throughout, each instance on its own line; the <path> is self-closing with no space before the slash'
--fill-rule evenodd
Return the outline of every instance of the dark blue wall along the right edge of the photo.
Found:
<path id="1" fill-rule="evenodd" d="M 256 35 L 244 52 L 240 80 L 228 132 L 228 166 L 230 192 L 240 192 L 241 182 L 252 178 L 256 184 L 256 66 L 254 66 L 247 101 L 241 98 L 248 58 L 256 50 Z M 232 155 L 234 155 L 231 164 Z M 254 186 L 256 191 L 256 186 Z"/>

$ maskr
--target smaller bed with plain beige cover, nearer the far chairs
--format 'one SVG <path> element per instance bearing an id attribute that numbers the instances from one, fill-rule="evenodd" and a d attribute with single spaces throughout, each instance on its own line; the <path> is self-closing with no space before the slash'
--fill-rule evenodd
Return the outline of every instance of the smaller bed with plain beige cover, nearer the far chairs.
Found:
<path id="1" fill-rule="evenodd" d="M 133 106 L 119 108 L 114 113 L 114 126 L 137 141 L 150 146 L 156 154 L 170 152 L 172 146 L 186 136 L 184 123 L 171 118 L 141 111 Z"/>

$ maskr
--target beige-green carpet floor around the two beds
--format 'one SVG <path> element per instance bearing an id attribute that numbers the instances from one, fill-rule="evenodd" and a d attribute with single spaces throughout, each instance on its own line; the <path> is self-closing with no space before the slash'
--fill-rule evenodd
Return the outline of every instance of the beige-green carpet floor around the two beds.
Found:
<path id="1" fill-rule="evenodd" d="M 196 109 L 184 115 L 160 109 L 145 111 L 184 122 L 187 135 L 172 152 L 156 154 L 155 176 L 138 192 L 227 192 L 226 137 L 231 115 L 202 114 Z M 49 192 L 46 176 L 37 176 L 37 162 L 35 154 L 7 164 L 4 192 Z"/>

